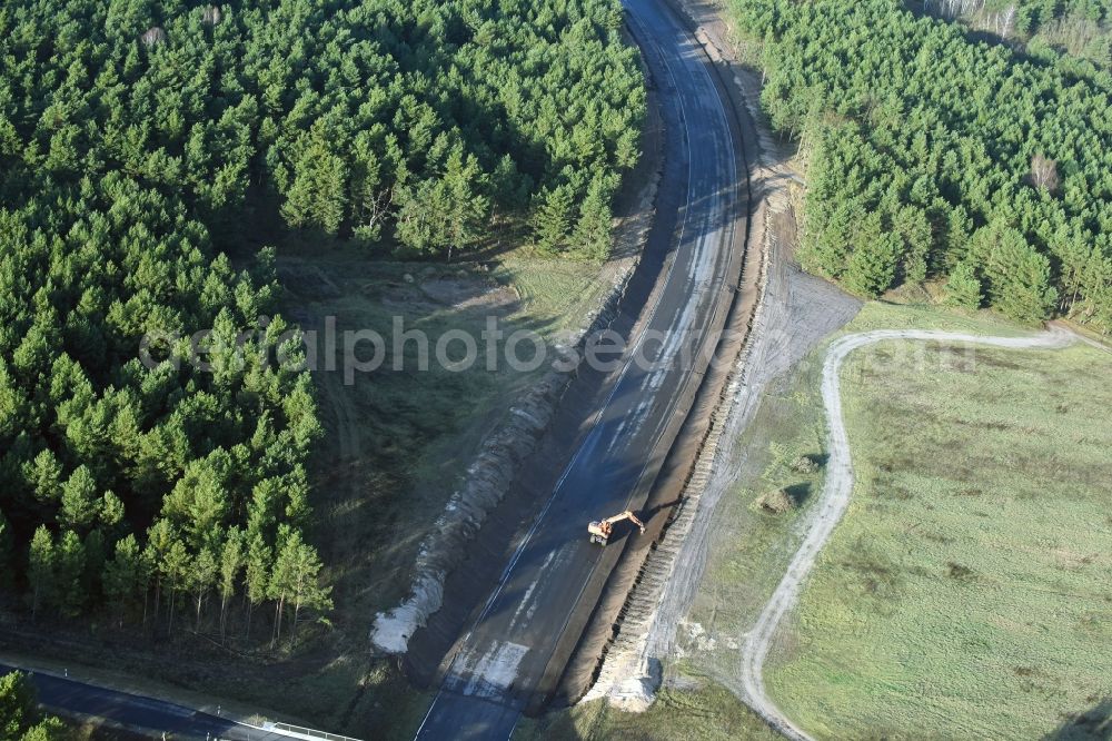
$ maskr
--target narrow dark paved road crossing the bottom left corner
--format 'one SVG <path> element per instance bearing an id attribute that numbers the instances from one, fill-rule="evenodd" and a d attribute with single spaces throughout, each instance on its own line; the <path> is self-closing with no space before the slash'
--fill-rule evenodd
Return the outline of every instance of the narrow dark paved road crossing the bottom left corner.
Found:
<path id="1" fill-rule="evenodd" d="M 227 741 L 288 741 L 290 737 L 265 729 L 242 725 L 191 708 L 145 698 L 129 692 L 107 690 L 76 680 L 41 674 L 0 664 L 0 675 L 23 671 L 31 675 L 39 691 L 39 702 L 50 712 L 93 715 L 121 725 L 142 729 L 167 739 L 226 739 Z"/>

